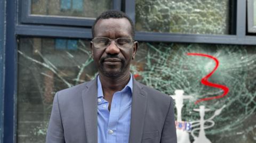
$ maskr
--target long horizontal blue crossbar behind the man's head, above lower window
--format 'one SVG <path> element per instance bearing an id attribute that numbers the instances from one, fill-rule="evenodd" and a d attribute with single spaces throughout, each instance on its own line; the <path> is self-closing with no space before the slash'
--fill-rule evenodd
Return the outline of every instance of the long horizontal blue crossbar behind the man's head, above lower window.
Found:
<path id="1" fill-rule="evenodd" d="M 67 37 L 67 38 L 92 38 L 90 28 L 70 28 L 53 26 L 19 25 L 15 30 L 20 36 L 39 37 Z M 211 43 L 211 44 L 236 44 L 256 45 L 255 36 L 239 37 L 237 35 L 196 35 L 180 33 L 136 32 L 138 41 L 176 42 L 176 43 Z"/>

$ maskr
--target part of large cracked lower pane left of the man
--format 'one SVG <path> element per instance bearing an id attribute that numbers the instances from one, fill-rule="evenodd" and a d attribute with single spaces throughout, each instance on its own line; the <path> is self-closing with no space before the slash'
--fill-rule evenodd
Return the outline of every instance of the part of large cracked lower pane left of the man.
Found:
<path id="1" fill-rule="evenodd" d="M 18 142 L 45 142 L 55 92 L 94 78 L 90 41 L 20 38 Z"/>

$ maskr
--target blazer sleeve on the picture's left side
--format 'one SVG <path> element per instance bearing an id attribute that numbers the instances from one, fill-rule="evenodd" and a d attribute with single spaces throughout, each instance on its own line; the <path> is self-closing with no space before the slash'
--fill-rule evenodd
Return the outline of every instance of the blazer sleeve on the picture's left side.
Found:
<path id="1" fill-rule="evenodd" d="M 64 130 L 61 121 L 58 92 L 55 94 L 52 113 L 46 134 L 46 143 L 64 143 Z"/>

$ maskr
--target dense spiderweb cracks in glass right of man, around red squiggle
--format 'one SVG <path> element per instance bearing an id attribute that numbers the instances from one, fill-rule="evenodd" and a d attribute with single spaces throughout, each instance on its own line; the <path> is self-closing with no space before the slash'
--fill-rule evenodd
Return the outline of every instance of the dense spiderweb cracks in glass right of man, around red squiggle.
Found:
<path id="1" fill-rule="evenodd" d="M 215 111 L 226 104 L 223 112 L 213 119 L 217 124 L 206 130 L 206 134 L 225 132 L 229 136 L 235 136 L 237 131 L 242 130 L 244 134 L 255 131 L 255 127 L 250 128 L 256 124 L 255 120 L 245 123 L 255 115 L 256 109 L 256 81 L 253 74 L 256 67 L 255 50 L 243 46 L 209 44 L 143 43 L 140 46 L 143 47 L 140 47 L 141 51 L 138 52 L 141 58 L 134 66 L 145 65 L 143 68 L 137 68 L 143 70 L 135 71 L 140 74 L 141 82 L 167 95 L 173 95 L 175 90 L 182 89 L 186 95 L 194 96 L 194 100 L 185 100 L 182 109 L 183 120 L 198 120 L 199 114 L 194 113 L 192 109 L 198 108 L 199 105 L 205 105 Z M 187 53 L 204 53 L 218 58 L 219 68 L 209 81 L 229 87 L 230 91 L 226 97 L 194 104 L 196 99 L 222 94 L 222 90 L 206 87 L 200 82 L 212 71 L 214 61 L 206 57 L 187 56 Z M 213 112 L 207 112 L 205 119 L 212 114 Z"/>

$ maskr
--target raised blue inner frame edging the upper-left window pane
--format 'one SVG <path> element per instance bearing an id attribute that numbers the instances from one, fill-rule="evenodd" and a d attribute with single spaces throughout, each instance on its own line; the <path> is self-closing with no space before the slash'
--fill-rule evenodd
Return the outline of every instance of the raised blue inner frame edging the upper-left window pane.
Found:
<path id="1" fill-rule="evenodd" d="M 92 26 L 95 18 L 78 18 L 67 16 L 47 16 L 30 14 L 31 0 L 20 0 L 21 2 L 21 23 L 25 24 L 52 24 L 59 26 Z M 121 0 L 113 1 L 113 9 L 121 10 Z"/>

